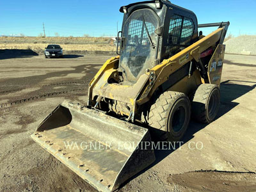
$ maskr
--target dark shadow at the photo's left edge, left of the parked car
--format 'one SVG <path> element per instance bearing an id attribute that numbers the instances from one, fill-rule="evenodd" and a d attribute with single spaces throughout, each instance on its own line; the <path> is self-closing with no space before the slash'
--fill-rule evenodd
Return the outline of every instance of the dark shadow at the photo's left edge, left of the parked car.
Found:
<path id="1" fill-rule="evenodd" d="M 1 49 L 0 60 L 12 59 L 12 58 L 31 58 L 38 56 L 38 53 L 31 49 Z"/>

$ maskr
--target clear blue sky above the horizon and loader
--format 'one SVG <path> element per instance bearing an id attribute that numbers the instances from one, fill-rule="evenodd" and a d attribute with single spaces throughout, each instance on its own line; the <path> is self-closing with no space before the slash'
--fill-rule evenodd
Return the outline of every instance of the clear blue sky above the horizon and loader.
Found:
<path id="1" fill-rule="evenodd" d="M 138 1 L 138 0 L 137 0 Z M 116 36 L 121 29 L 120 6 L 136 0 L 0 0 L 0 35 Z M 228 33 L 256 35 L 256 0 L 171 0 L 193 11 L 198 24 L 230 21 Z M 214 31 L 205 29 L 204 34 Z"/>

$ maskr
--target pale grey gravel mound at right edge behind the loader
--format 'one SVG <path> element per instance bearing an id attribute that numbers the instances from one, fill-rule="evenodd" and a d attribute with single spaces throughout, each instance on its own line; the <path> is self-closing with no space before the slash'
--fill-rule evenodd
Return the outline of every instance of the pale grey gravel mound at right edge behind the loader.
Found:
<path id="1" fill-rule="evenodd" d="M 256 56 L 256 35 L 243 35 L 230 38 L 226 45 L 226 53 L 247 54 Z"/>

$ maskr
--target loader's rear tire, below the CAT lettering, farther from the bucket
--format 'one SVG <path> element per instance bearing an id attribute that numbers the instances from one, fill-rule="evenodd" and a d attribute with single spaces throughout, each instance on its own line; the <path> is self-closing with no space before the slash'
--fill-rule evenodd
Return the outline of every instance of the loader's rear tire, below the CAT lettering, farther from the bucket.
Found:
<path id="1" fill-rule="evenodd" d="M 200 84 L 193 102 L 192 117 L 203 124 L 211 123 L 218 113 L 220 106 L 220 89 L 216 84 Z"/>

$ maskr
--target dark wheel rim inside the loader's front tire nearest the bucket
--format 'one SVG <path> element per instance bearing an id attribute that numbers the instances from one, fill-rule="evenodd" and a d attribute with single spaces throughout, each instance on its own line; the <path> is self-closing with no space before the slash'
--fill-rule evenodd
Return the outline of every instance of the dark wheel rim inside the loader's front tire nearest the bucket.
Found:
<path id="1" fill-rule="evenodd" d="M 185 117 L 186 110 L 184 107 L 180 106 L 175 110 L 172 118 L 172 129 L 174 132 L 179 132 L 182 129 L 185 123 Z"/>

